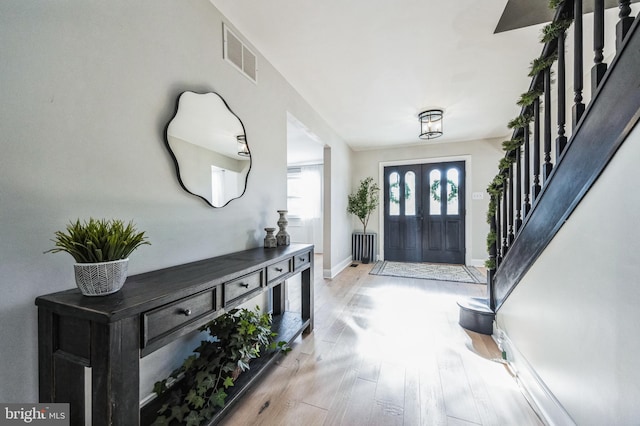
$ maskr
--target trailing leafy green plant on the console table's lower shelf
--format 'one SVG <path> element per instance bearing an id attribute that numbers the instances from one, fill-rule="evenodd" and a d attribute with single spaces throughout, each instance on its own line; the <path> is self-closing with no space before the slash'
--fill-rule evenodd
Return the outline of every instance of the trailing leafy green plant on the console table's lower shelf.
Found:
<path id="1" fill-rule="evenodd" d="M 255 310 L 234 309 L 204 325 L 210 340 L 203 340 L 194 354 L 168 378 L 158 381 L 153 391 L 169 393 L 168 402 L 158 411 L 154 425 L 200 425 L 224 407 L 232 387 L 250 361 L 266 349 L 287 352 L 286 342 L 274 342 L 270 314 Z M 175 386 L 168 386 L 177 382 Z"/>

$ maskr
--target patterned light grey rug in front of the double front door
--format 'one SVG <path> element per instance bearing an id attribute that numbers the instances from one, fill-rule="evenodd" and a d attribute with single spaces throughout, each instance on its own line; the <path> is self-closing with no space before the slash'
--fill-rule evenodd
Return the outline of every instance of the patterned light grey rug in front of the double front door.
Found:
<path id="1" fill-rule="evenodd" d="M 390 277 L 420 278 L 424 280 L 455 281 L 461 283 L 485 284 L 487 278 L 473 266 L 448 265 L 443 263 L 412 263 L 378 261 L 372 275 Z"/>

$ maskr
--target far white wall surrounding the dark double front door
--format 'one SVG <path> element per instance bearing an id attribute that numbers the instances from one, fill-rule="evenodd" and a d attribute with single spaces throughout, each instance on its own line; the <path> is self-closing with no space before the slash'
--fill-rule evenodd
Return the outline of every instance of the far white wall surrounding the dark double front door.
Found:
<path id="1" fill-rule="evenodd" d="M 506 137 L 504 139 L 507 139 Z M 371 176 L 383 188 L 382 176 L 380 176 L 380 164 L 391 162 L 432 162 L 444 159 L 451 161 L 459 157 L 467 160 L 467 264 L 482 265 L 487 259 L 486 237 L 489 232 L 487 225 L 487 208 L 489 196 L 486 193 L 487 186 L 498 172 L 498 161 L 504 156 L 501 142 L 504 139 L 478 140 L 457 143 L 425 142 L 422 145 L 394 149 L 379 149 L 371 151 L 358 151 L 354 154 L 354 172 L 351 181 L 351 191 L 355 190 L 361 179 Z M 482 192 L 483 200 L 471 200 L 471 194 Z M 380 194 L 382 200 L 382 193 Z M 380 209 L 376 210 L 369 224 L 367 232 L 380 233 Z M 360 221 L 352 217 L 354 228 L 362 230 Z M 378 241 L 380 242 L 380 238 Z M 378 253 L 380 253 L 378 247 Z"/>

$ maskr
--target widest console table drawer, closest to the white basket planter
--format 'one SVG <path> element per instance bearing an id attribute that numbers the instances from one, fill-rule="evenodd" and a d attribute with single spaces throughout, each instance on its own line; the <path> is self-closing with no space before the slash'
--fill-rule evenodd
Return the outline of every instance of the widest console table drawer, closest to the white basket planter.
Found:
<path id="1" fill-rule="evenodd" d="M 143 315 L 144 346 L 153 339 L 215 310 L 215 289 L 212 289 L 145 312 Z"/>

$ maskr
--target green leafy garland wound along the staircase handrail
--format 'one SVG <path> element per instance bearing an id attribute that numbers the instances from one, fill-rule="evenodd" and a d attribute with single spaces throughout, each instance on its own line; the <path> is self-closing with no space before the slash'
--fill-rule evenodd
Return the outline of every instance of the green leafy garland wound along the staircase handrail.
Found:
<path id="1" fill-rule="evenodd" d="M 549 8 L 557 10 L 565 3 L 565 0 L 549 0 Z M 551 22 L 542 28 L 541 33 L 541 43 L 548 43 L 552 40 L 558 38 L 558 36 L 564 33 L 573 23 L 572 18 L 559 19 L 555 22 Z M 558 59 L 557 50 L 552 54 L 546 57 L 536 58 L 531 62 L 531 69 L 529 71 L 529 77 L 535 77 L 540 72 L 551 68 L 551 66 Z M 509 140 L 502 142 L 502 149 L 505 151 L 505 156 L 500 159 L 498 163 L 498 174 L 493 178 L 489 186 L 487 187 L 487 192 L 490 195 L 489 200 L 489 208 L 487 210 L 487 223 L 491 225 L 491 221 L 494 219 L 496 214 L 497 203 L 500 200 L 500 197 L 504 190 L 504 182 L 509 175 L 509 168 L 516 161 L 517 150 L 520 148 L 524 142 L 524 136 L 520 136 L 519 132 L 516 132 L 516 129 L 522 129 L 524 131 L 528 131 L 527 128 L 531 120 L 533 119 L 533 114 L 528 108 L 532 105 L 536 99 L 539 99 L 540 96 L 544 94 L 544 91 L 540 84 L 530 89 L 528 92 L 520 95 L 520 99 L 517 104 L 523 108 L 523 112 L 513 120 L 511 120 L 507 127 L 510 129 L 514 129 L 514 137 Z M 495 231 L 489 231 L 487 235 L 487 251 L 491 252 L 492 246 L 497 242 L 497 235 Z M 496 268 L 495 259 L 488 259 L 485 262 L 485 267 L 488 269 Z"/>

